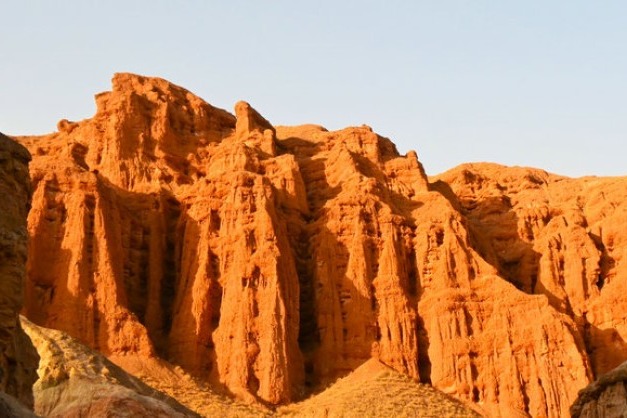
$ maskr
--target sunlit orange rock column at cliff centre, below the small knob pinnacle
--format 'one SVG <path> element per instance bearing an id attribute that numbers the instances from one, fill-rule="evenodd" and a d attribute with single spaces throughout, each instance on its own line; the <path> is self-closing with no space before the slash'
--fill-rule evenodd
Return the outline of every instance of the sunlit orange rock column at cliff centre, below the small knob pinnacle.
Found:
<path id="1" fill-rule="evenodd" d="M 223 288 L 214 333 L 220 380 L 272 402 L 289 402 L 302 384 L 298 279 L 271 189 L 241 174 L 222 211 Z M 248 185 L 248 186 L 246 186 Z"/>

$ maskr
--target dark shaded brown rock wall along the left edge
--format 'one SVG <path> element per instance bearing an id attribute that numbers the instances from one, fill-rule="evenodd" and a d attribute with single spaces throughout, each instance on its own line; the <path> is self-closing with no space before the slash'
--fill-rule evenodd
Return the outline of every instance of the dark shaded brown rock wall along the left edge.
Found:
<path id="1" fill-rule="evenodd" d="M 30 207 L 28 151 L 0 134 L 0 391 L 32 407 L 37 355 L 20 328 Z"/>

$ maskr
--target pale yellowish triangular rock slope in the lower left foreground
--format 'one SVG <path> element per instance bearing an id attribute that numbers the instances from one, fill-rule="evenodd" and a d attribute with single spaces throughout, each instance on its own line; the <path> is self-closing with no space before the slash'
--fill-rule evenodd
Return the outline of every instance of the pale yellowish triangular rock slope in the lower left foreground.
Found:
<path id="1" fill-rule="evenodd" d="M 48 418 L 198 417 L 61 331 L 22 325 L 37 348 L 35 412 Z"/>

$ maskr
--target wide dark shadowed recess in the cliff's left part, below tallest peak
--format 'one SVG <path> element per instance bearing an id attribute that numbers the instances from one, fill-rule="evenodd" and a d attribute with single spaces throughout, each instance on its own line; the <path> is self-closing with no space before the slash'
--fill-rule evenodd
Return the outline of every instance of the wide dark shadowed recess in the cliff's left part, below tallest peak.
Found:
<path id="1" fill-rule="evenodd" d="M 172 325 L 175 288 L 180 272 L 180 249 L 176 245 L 179 238 L 177 227 L 181 218 L 180 203 L 164 189 L 157 193 L 130 192 L 115 186 L 100 175 L 98 182 L 100 198 L 107 199 L 107 204 L 114 205 L 109 209 L 119 216 L 120 225 L 105 225 L 105 228 L 112 228 L 112 231 L 119 233 L 113 238 L 120 241 L 109 243 L 107 248 L 116 252 L 108 255 L 110 260 L 115 261 L 118 256 L 121 257 L 121 269 L 116 271 L 119 276 L 114 279 L 124 288 L 122 300 L 127 302 L 127 306 L 123 307 L 129 309 L 146 327 L 157 353 L 165 358 L 167 336 Z M 158 223 L 154 222 L 155 218 Z M 112 221 L 114 219 L 108 220 Z M 157 230 L 153 230 L 155 227 Z M 160 246 L 151 248 L 155 245 L 155 235 L 162 235 L 156 241 Z M 120 250 L 121 253 L 118 252 Z M 160 254 L 154 258 L 155 255 L 151 252 L 156 251 Z M 155 260 L 160 263 L 154 265 Z M 161 274 L 151 272 L 151 269 L 160 270 Z M 155 293 L 154 289 L 158 292 Z M 151 311 L 160 312 L 160 319 L 150 318 Z"/>

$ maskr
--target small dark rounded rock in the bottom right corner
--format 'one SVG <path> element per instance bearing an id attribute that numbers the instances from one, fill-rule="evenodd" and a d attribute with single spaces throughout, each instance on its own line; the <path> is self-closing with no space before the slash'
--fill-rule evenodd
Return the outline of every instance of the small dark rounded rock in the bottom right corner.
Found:
<path id="1" fill-rule="evenodd" d="M 570 414 L 572 418 L 627 416 L 627 362 L 581 390 Z"/>

